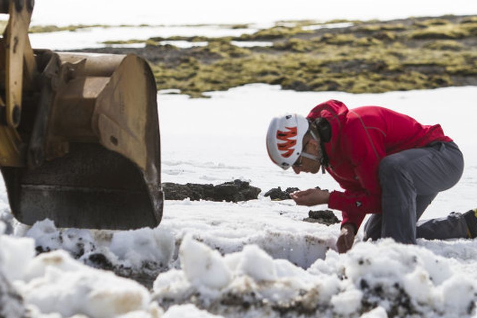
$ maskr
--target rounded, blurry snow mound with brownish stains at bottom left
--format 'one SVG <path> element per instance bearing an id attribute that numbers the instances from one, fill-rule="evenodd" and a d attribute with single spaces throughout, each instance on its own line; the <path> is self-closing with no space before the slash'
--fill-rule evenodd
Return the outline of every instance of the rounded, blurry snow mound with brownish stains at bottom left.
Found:
<path id="1" fill-rule="evenodd" d="M 135 281 L 90 268 L 63 250 L 43 253 L 28 265 L 16 287 L 42 313 L 117 317 L 148 310 L 150 294 Z"/>

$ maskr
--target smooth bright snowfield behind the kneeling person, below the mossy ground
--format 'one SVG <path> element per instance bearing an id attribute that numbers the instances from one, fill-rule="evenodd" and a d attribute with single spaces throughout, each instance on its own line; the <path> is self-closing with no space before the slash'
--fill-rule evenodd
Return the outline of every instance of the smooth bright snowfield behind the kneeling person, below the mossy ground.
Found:
<path id="1" fill-rule="evenodd" d="M 452 211 L 465 212 L 475 205 L 477 142 L 469 134 L 469 128 L 474 126 L 472 114 L 476 110 L 468 101 L 476 94 L 473 86 L 348 94 L 295 92 L 281 90 L 279 86 L 250 84 L 227 92 L 209 93 L 211 99 L 159 95 L 162 180 L 221 183 L 243 178 L 264 191 L 277 186 L 306 189 L 319 185 L 324 189 L 338 189 L 327 174 L 312 177 L 274 169 L 264 147 L 270 118 L 290 111 L 308 114 L 319 102 L 334 98 L 350 108 L 380 105 L 409 114 L 425 124 L 440 123 L 463 151 L 466 168 L 459 184 L 440 193 L 424 218 L 442 217 Z M 454 107 L 469 115 L 449 115 Z M 184 112 L 187 116 L 182 116 Z"/>

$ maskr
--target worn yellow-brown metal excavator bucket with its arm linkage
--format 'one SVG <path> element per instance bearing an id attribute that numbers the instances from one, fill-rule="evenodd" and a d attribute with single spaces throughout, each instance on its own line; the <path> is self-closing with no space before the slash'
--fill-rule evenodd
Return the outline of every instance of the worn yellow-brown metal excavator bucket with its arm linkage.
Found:
<path id="1" fill-rule="evenodd" d="M 12 214 L 28 225 L 158 226 L 159 120 L 148 63 L 33 50 L 32 9 L 31 0 L 0 0 L 9 14 L 0 40 L 0 165 Z"/>

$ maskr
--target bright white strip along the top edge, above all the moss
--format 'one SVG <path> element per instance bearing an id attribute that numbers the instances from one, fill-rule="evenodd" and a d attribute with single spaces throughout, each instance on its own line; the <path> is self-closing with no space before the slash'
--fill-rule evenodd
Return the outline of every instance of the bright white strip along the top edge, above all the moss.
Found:
<path id="1" fill-rule="evenodd" d="M 58 12 L 61 12 L 59 14 Z M 37 0 L 33 24 L 210 24 L 267 23 L 279 20 L 393 19 L 408 16 L 475 14 L 477 2 L 470 0 L 221 0 L 154 1 Z"/>

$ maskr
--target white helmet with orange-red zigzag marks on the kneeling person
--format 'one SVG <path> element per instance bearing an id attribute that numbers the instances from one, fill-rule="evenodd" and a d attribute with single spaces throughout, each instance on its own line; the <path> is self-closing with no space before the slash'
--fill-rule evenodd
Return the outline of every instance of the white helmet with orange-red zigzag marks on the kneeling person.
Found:
<path id="1" fill-rule="evenodd" d="M 284 170 L 302 155 L 303 137 L 309 128 L 308 120 L 297 114 L 275 117 L 267 132 L 268 156 Z"/>

